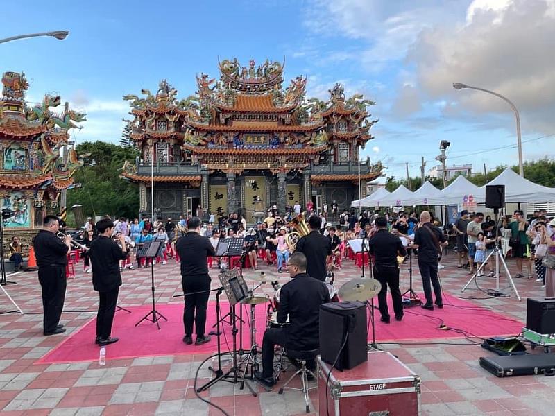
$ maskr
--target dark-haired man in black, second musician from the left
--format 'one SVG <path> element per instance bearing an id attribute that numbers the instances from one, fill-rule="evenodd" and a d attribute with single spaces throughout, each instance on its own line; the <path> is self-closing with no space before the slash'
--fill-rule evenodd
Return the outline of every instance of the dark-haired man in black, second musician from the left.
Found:
<path id="1" fill-rule="evenodd" d="M 98 238 L 90 243 L 89 257 L 92 263 L 92 287 L 99 293 L 99 311 L 96 313 L 96 339 L 99 345 L 116 343 L 112 337 L 112 324 L 116 313 L 117 296 L 121 286 L 119 261 L 127 259 L 125 236 L 119 234 L 119 244 L 112 240 L 114 223 L 104 218 L 96 223 Z"/>

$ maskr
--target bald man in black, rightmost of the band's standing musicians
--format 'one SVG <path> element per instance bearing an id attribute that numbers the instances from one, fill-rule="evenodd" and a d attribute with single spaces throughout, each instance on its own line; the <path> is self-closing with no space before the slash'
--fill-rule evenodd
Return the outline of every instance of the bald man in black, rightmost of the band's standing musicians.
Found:
<path id="1" fill-rule="evenodd" d="M 414 243 L 411 248 L 418 248 L 418 269 L 422 276 L 422 286 L 426 297 L 426 303 L 422 308 L 434 310 L 434 299 L 432 298 L 432 288 L 436 295 L 436 306 L 443 308 L 443 298 L 441 297 L 441 284 L 438 279 L 438 255 L 441 253 L 441 245 L 445 243 L 445 236 L 441 229 L 434 227 L 430 223 L 431 216 L 428 211 L 420 213 L 420 227 L 414 233 Z"/>

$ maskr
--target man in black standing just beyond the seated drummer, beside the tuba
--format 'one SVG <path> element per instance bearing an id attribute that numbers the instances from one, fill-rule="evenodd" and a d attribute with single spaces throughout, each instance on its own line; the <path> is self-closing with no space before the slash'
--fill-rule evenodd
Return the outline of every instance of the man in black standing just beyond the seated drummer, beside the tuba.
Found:
<path id="1" fill-rule="evenodd" d="M 307 273 L 321 281 L 325 281 L 326 265 L 332 256 L 332 242 L 320 234 L 322 221 L 318 216 L 311 216 L 308 220 L 310 232 L 302 236 L 297 242 L 295 252 L 305 254 L 307 257 Z"/>

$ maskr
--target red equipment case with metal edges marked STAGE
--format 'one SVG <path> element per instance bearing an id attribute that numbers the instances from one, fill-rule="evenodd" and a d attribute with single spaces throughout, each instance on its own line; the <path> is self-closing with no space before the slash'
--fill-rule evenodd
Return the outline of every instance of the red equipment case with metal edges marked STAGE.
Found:
<path id="1" fill-rule="evenodd" d="M 393 354 L 368 352 L 368 361 L 340 372 L 318 362 L 318 414 L 327 416 L 418 416 L 420 377 Z M 327 408 L 326 408 L 327 404 Z"/>

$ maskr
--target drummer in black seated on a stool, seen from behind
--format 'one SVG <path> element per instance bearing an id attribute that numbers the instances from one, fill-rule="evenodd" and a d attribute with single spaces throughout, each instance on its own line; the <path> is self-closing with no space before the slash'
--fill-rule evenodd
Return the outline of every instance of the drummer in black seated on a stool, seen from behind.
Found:
<path id="1" fill-rule="evenodd" d="M 287 270 L 293 278 L 281 289 L 278 322 L 284 324 L 289 315 L 289 325 L 268 328 L 262 340 L 262 372 L 255 371 L 255 379 L 266 388 L 275 384 L 273 354 L 276 344 L 287 349 L 304 351 L 316 349 L 319 344 L 318 318 L 320 305 L 330 302 L 330 293 L 322 281 L 307 275 L 307 257 L 301 252 L 291 254 Z M 315 363 L 307 362 L 309 369 Z"/>

